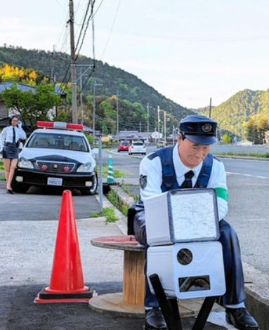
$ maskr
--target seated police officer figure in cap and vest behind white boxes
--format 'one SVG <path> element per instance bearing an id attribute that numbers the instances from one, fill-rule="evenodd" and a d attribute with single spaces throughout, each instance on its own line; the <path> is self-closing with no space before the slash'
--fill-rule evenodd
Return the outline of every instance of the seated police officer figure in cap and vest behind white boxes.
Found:
<path id="1" fill-rule="evenodd" d="M 223 303 L 226 321 L 240 330 L 258 330 L 258 324 L 245 308 L 244 275 L 240 245 L 232 226 L 224 220 L 228 213 L 228 190 L 224 165 L 209 154 L 210 145 L 216 143 L 216 121 L 193 114 L 181 120 L 177 144 L 147 155 L 140 163 L 140 199 L 136 204 L 133 230 L 140 244 L 147 247 L 143 200 L 171 189 L 210 187 L 216 190 L 218 216 L 223 246 L 226 293 Z M 211 160 L 210 160 L 211 159 Z M 209 179 L 200 185 L 203 164 L 209 164 Z M 168 166 L 168 167 L 167 167 Z M 169 168 L 169 170 L 167 170 Z M 167 171 L 172 175 L 167 176 Z M 188 173 L 186 176 L 185 174 Z M 164 182 L 165 181 L 165 182 Z M 191 185 L 190 185 L 191 184 Z M 145 265 L 145 274 L 146 274 Z M 155 295 L 145 280 L 145 330 L 166 329 Z"/>

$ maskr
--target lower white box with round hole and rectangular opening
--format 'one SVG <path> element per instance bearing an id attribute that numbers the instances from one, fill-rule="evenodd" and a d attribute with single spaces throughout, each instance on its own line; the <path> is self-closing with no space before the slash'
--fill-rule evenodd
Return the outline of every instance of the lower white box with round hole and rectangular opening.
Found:
<path id="1" fill-rule="evenodd" d="M 147 280 L 157 274 L 166 296 L 180 299 L 223 296 L 225 275 L 220 242 L 192 242 L 147 249 Z"/>

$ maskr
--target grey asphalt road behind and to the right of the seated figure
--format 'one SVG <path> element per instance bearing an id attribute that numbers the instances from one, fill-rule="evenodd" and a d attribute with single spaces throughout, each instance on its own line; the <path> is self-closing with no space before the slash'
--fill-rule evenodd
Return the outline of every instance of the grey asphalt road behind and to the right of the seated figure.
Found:
<path id="1" fill-rule="evenodd" d="M 148 148 L 147 153 L 152 149 Z M 108 157 L 104 152 L 103 164 L 107 164 Z M 127 152 L 112 154 L 114 168 L 131 173 L 124 176 L 126 183 L 138 184 L 142 158 L 129 157 Z M 221 158 L 221 161 L 225 165 L 229 193 L 226 220 L 235 227 L 240 239 L 245 276 L 249 282 L 258 278 L 261 294 L 268 299 L 269 162 L 232 158 Z"/>

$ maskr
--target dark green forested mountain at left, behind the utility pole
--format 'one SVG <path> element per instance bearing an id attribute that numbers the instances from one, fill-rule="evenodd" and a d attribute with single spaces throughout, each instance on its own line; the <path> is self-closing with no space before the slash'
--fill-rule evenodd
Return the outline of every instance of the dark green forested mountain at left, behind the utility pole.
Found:
<path id="1" fill-rule="evenodd" d="M 40 72 L 40 77 L 43 75 L 50 77 L 53 73 L 58 82 L 65 81 L 66 83 L 68 79 L 70 81 L 70 70 L 67 73 L 70 55 L 66 53 L 55 54 L 37 49 L 27 50 L 21 47 L 4 45 L 0 47 L 0 65 L 4 63 L 19 68 L 24 67 L 38 70 Z M 93 60 L 86 56 L 79 55 L 76 64 L 93 64 Z M 86 66 L 83 67 L 83 69 L 86 70 Z M 79 77 L 79 70 L 80 67 L 77 67 L 77 77 Z M 88 72 L 91 72 L 91 70 Z M 144 131 L 146 131 L 147 126 L 147 103 L 150 104 L 150 117 L 154 117 L 154 120 L 152 119 L 150 121 L 151 129 L 157 126 L 157 106 L 171 114 L 171 121 L 167 121 L 166 123 L 168 128 L 170 126 L 170 129 L 172 125 L 178 125 L 178 121 L 180 121 L 181 118 L 193 113 L 191 110 L 178 105 L 164 95 L 158 93 L 155 88 L 145 84 L 145 82 L 135 75 L 99 60 L 96 60 L 96 69 L 91 74 L 91 77 L 89 77 L 87 81 L 86 77 L 84 77 L 82 81 L 84 95 L 93 95 L 93 84 L 96 78 L 98 79 L 97 84 L 103 85 L 96 87 L 96 96 L 105 95 L 107 98 L 110 98 L 119 91 L 119 100 L 127 100 L 131 104 L 140 103 L 143 106 L 144 115 L 139 120 Z M 77 83 L 78 86 L 79 82 L 80 81 Z M 133 113 L 133 115 L 135 114 Z M 160 117 L 163 118 L 161 113 Z M 133 128 L 126 125 L 124 127 L 125 129 Z M 121 130 L 121 127 L 119 130 Z"/>

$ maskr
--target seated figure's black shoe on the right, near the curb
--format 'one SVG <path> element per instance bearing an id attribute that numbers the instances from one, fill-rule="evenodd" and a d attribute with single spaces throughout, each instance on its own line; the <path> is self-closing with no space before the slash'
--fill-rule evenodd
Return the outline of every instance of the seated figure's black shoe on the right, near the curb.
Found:
<path id="1" fill-rule="evenodd" d="M 258 323 L 247 308 L 226 308 L 226 321 L 240 330 L 258 330 Z"/>

